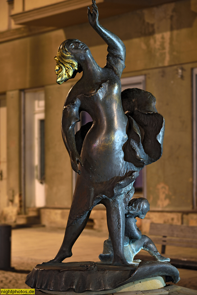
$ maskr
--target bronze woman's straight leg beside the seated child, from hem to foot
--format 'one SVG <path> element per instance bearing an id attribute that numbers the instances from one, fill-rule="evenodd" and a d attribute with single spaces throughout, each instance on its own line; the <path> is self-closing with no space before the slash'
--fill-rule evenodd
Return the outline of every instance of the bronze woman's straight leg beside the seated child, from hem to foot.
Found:
<path id="1" fill-rule="evenodd" d="M 130 266 L 124 257 L 125 204 L 123 199 L 104 199 L 107 226 L 114 250 L 113 265 Z"/>

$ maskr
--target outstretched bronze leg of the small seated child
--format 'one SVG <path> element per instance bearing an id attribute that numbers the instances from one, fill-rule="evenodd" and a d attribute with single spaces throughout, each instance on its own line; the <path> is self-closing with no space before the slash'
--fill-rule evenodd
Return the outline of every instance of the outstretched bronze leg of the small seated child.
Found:
<path id="1" fill-rule="evenodd" d="M 146 235 L 142 235 L 140 240 L 141 240 L 141 244 L 143 245 L 141 249 L 150 253 L 150 255 L 152 255 L 153 257 L 157 259 L 157 261 L 162 261 L 162 262 L 170 261 L 170 258 L 164 257 L 158 252 L 155 244 L 149 237 L 147 237 Z"/>

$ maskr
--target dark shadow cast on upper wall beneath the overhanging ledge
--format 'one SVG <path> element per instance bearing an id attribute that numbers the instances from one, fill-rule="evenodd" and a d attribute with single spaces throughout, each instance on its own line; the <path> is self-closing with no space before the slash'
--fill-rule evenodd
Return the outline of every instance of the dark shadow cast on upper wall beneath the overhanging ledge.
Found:
<path id="1" fill-rule="evenodd" d="M 173 30 L 181 30 L 190 28 L 196 19 L 197 12 L 191 10 L 190 1 L 178 1 L 172 4 L 164 4 L 154 8 L 146 9 L 146 12 L 151 15 L 151 22 L 145 14 L 145 9 L 135 10 L 125 14 L 103 18 L 101 23 L 104 27 L 113 31 L 120 39 L 129 40 L 134 38 L 152 36 L 157 33 L 163 33 Z M 157 27 L 161 22 L 160 19 L 165 19 L 165 24 Z M 132 28 L 132 29 L 131 29 Z M 84 42 L 89 47 L 103 45 L 105 42 L 98 38 L 98 35 L 88 23 L 84 23 L 63 29 L 66 39 L 76 38 Z M 159 30 L 159 32 L 158 32 Z M 90 37 L 91 36 L 91 37 Z"/>

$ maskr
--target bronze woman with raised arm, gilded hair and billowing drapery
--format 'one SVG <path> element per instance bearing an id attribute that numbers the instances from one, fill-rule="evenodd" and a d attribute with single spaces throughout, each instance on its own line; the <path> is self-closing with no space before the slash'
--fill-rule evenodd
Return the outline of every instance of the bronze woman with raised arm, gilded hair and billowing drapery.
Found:
<path id="1" fill-rule="evenodd" d="M 98 21 L 92 1 L 88 20 L 108 45 L 107 63 L 101 68 L 89 48 L 76 39 L 65 40 L 55 57 L 57 83 L 62 84 L 83 71 L 70 89 L 62 114 L 62 136 L 71 166 L 78 173 L 65 236 L 52 262 L 72 255 L 71 249 L 86 226 L 92 208 L 104 204 L 113 246 L 113 265 L 129 265 L 124 257 L 125 208 L 133 196 L 133 183 L 144 165 L 162 154 L 164 119 L 157 113 L 155 97 L 134 88 L 121 94 L 120 77 L 125 67 L 123 42 Z M 81 127 L 80 112 L 93 122 Z M 79 168 L 78 168 L 78 164 Z"/>

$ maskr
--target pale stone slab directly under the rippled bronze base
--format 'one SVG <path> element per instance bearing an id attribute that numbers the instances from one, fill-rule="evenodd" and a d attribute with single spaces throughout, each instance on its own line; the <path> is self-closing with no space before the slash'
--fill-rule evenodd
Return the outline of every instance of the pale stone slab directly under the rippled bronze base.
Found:
<path id="1" fill-rule="evenodd" d="M 48 291 L 48 290 L 41 290 L 47 294 L 55 294 L 55 295 L 104 295 L 104 294 L 112 294 L 118 292 L 127 292 L 127 291 L 136 291 L 136 290 L 153 290 L 162 288 L 165 286 L 165 276 L 157 276 L 155 278 L 145 278 L 143 280 L 134 281 L 124 286 L 118 287 L 113 290 L 106 290 L 106 291 L 86 291 L 83 293 L 76 293 L 72 290 L 66 292 L 59 292 L 59 291 Z"/>

